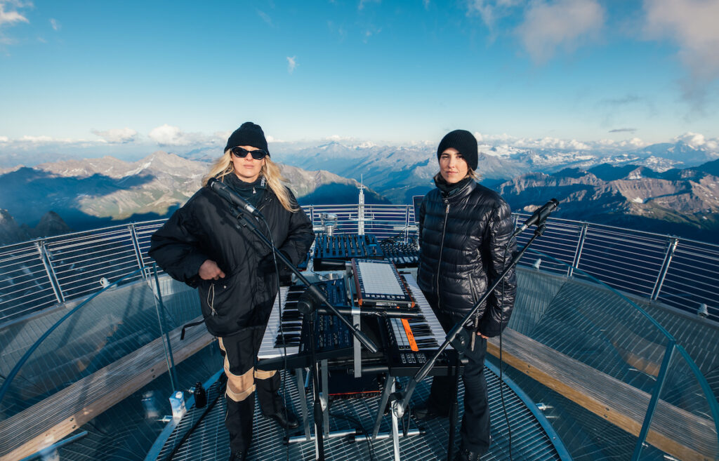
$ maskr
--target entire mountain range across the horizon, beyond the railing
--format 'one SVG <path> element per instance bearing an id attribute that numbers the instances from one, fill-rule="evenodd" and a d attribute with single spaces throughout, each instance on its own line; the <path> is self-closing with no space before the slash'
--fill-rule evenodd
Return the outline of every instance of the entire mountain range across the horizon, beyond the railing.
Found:
<path id="1" fill-rule="evenodd" d="M 411 203 L 434 187 L 438 171 L 426 143 L 331 141 L 272 152 L 303 205 L 356 203 L 359 182 L 367 202 Z M 0 244 L 163 218 L 209 170 L 206 152 L 189 157 L 155 152 L 137 162 L 102 157 L 0 170 Z M 684 141 L 622 152 L 480 144 L 477 172 L 513 210 L 531 212 L 556 197 L 554 216 L 717 241 L 718 158 Z"/>

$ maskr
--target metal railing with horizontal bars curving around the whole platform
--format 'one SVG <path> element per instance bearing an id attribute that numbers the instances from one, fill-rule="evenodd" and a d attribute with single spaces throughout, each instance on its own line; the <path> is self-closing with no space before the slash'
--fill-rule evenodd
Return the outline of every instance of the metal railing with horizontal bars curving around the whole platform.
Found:
<path id="1" fill-rule="evenodd" d="M 308 205 L 316 229 L 336 216 L 337 233 L 416 236 L 411 205 Z M 359 213 L 363 210 L 364 213 Z M 528 215 L 516 214 L 517 222 Z M 164 220 L 118 225 L 0 247 L 0 325 L 96 290 L 152 265 L 150 236 Z M 530 232 L 519 236 L 526 243 Z M 719 320 L 719 245 L 608 225 L 549 218 L 536 249 L 614 289 Z M 138 276 L 139 277 L 139 276 Z"/>

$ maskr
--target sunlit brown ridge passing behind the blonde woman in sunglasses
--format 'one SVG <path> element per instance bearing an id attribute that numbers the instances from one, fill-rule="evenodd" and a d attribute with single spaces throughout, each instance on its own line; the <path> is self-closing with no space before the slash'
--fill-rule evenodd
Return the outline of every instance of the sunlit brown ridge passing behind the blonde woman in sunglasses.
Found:
<path id="1" fill-rule="evenodd" d="M 301 204 L 357 202 L 355 180 L 279 167 Z M 137 162 L 102 157 L 10 169 L 0 174 L 0 244 L 167 217 L 200 188 L 209 168 L 157 151 Z M 388 202 L 372 190 L 366 194 L 368 203 Z"/>

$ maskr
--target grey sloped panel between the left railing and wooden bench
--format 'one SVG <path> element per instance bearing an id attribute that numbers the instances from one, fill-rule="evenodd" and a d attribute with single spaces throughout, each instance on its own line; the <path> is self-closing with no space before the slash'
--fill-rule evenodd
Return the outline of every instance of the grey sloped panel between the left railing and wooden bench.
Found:
<path id="1" fill-rule="evenodd" d="M 32 318 L 0 332 L 4 345 L 2 376 L 8 378 L 7 382 L 3 378 L 0 391 L 1 419 L 18 414 L 160 337 L 158 312 L 164 310 L 163 320 L 169 330 L 200 315 L 196 291 L 184 284 L 163 280 L 160 290 L 164 309 L 155 296 L 154 279 L 119 286 L 138 274 L 134 271 L 109 284 L 70 312 L 51 312 L 48 315 L 55 323 L 50 323 L 50 328 L 38 330 L 38 325 L 48 322 Z"/>

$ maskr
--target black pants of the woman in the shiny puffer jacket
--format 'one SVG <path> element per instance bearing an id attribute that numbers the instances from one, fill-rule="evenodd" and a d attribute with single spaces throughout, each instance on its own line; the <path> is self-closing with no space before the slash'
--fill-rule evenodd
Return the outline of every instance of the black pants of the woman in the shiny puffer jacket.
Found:
<path id="1" fill-rule="evenodd" d="M 456 322 L 452 316 L 436 310 L 436 297 L 427 296 L 434 314 L 445 332 L 452 330 Z M 473 332 L 470 332 L 474 334 Z M 471 336 L 470 336 L 471 337 Z M 459 434 L 462 437 L 462 448 L 483 454 L 490 447 L 490 409 L 487 395 L 487 381 L 485 381 L 485 354 L 487 353 L 487 340 L 481 336 L 475 337 L 474 350 L 464 351 L 468 363 L 462 371 L 464 383 L 464 416 Z M 435 376 L 427 404 L 438 411 L 446 411 L 454 399 L 454 376 Z"/>

